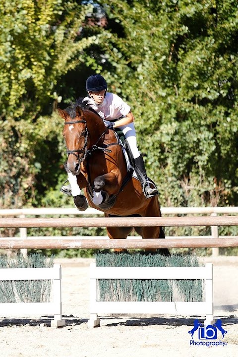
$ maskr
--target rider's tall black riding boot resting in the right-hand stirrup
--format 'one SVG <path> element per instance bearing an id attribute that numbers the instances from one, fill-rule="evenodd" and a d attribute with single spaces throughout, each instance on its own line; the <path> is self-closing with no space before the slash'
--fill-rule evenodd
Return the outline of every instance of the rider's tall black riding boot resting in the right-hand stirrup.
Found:
<path id="1" fill-rule="evenodd" d="M 149 181 L 147 178 L 142 154 L 140 154 L 138 158 L 134 159 L 134 162 L 135 162 L 135 172 L 140 181 L 145 197 L 151 198 L 153 196 L 156 196 L 159 192 L 157 191 L 155 184 Z M 150 185 L 153 185 L 153 187 L 151 187 Z"/>

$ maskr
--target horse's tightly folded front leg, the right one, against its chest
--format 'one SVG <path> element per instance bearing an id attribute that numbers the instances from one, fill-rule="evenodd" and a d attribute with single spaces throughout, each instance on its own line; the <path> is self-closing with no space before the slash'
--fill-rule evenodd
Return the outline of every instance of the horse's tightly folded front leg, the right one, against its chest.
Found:
<path id="1" fill-rule="evenodd" d="M 96 205 L 102 203 L 102 190 L 109 194 L 117 194 L 120 187 L 118 176 L 115 173 L 98 176 L 94 180 L 93 185 L 93 203 Z"/>

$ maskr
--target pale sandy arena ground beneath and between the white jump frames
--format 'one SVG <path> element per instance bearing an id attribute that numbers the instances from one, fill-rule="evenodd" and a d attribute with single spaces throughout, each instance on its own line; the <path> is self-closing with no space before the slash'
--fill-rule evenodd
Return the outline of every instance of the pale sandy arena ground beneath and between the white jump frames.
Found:
<path id="1" fill-rule="evenodd" d="M 204 258 L 214 264 L 214 317 L 227 334 L 225 346 L 190 345 L 188 331 L 200 316 L 104 316 L 88 328 L 89 264 L 93 259 L 56 259 L 62 266 L 63 328 L 51 328 L 49 316 L 0 320 L 2 357 L 235 357 L 238 356 L 238 257 Z M 197 332 L 194 341 L 199 342 Z M 208 340 L 206 340 L 208 341 Z M 214 341 L 214 340 L 209 340 Z"/>

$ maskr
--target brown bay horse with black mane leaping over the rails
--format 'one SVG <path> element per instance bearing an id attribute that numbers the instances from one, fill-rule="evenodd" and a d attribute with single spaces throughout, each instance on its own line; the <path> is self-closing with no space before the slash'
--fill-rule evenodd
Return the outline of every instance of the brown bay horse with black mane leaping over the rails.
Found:
<path id="1" fill-rule="evenodd" d="M 65 110 L 58 108 L 58 113 L 64 120 L 65 170 L 76 175 L 84 189 L 84 196 L 74 200 L 77 208 L 85 210 L 88 201 L 109 218 L 161 217 L 158 197 L 145 198 L 139 180 L 128 174 L 115 131 L 104 125 L 98 113 L 82 98 Z M 162 227 L 107 227 L 107 234 L 111 239 L 126 238 L 133 229 L 142 238 L 165 238 Z M 167 248 L 160 252 L 170 255 Z"/>

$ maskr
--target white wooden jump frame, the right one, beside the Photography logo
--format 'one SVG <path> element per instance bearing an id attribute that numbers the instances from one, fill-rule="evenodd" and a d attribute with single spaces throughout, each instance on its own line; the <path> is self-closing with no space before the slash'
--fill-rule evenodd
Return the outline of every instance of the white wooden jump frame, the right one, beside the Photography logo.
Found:
<path id="1" fill-rule="evenodd" d="M 202 279 L 204 302 L 98 301 L 98 279 Z M 175 314 L 205 316 L 204 325 L 213 323 L 213 266 L 205 267 L 90 267 L 89 327 L 100 326 L 102 314 Z"/>

